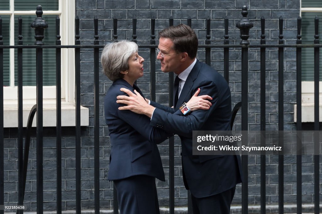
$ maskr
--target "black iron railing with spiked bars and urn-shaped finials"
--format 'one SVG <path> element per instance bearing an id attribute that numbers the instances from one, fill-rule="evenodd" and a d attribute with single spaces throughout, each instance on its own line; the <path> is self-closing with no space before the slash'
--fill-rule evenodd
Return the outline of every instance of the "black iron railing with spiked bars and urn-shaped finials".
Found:
<path id="1" fill-rule="evenodd" d="M 229 35 L 228 35 L 228 19 L 227 17 L 224 19 L 224 27 L 225 27 L 225 35 L 224 41 L 222 45 L 212 45 L 211 44 L 211 36 L 210 36 L 210 22 L 211 19 L 208 17 L 206 20 L 206 40 L 204 45 L 200 45 L 200 48 L 205 49 L 205 62 L 210 65 L 211 63 L 211 50 L 213 48 L 222 48 L 224 51 L 224 78 L 227 82 L 229 82 L 229 51 L 232 48 L 240 49 L 242 56 L 242 98 L 241 103 L 236 105 L 234 114 L 241 107 L 241 117 L 242 117 L 242 130 L 248 130 L 248 50 L 250 48 L 260 49 L 260 129 L 262 131 L 266 130 L 266 115 L 265 115 L 265 51 L 267 48 L 275 48 L 278 49 L 278 92 L 279 92 L 279 103 L 284 103 L 284 94 L 283 94 L 283 82 L 284 82 L 284 49 L 285 48 L 296 48 L 296 76 L 297 76 L 297 130 L 301 130 L 301 50 L 302 48 L 314 48 L 314 91 L 315 91 L 315 99 L 314 99 L 314 129 L 319 130 L 319 49 L 322 45 L 319 44 L 319 36 L 318 36 L 318 18 L 315 19 L 315 35 L 314 35 L 314 44 L 311 45 L 302 45 L 301 44 L 301 19 L 298 19 L 298 35 L 296 36 L 296 44 L 284 44 L 283 40 L 283 18 L 279 18 L 279 40 L 277 45 L 266 45 L 265 40 L 265 19 L 261 18 L 261 40 L 260 45 L 251 45 L 248 41 L 249 38 L 249 30 L 252 27 L 252 23 L 247 18 L 247 7 L 242 8 L 242 19 L 237 23 L 236 27 L 238 27 L 241 31 L 241 43 L 239 45 L 231 45 L 229 44 Z M 19 17 L 18 19 L 18 44 L 15 46 L 4 46 L 2 41 L 2 19 L 0 18 L 0 75 L 3 75 L 3 50 L 4 49 L 17 49 L 18 50 L 18 204 L 22 205 L 24 201 L 24 188 L 25 188 L 25 180 L 27 173 L 27 162 L 28 162 L 28 148 L 30 140 L 30 133 L 27 131 L 27 136 L 25 137 L 25 153 L 23 154 L 23 88 L 22 88 L 22 75 L 23 75 L 23 67 L 22 67 L 22 59 L 23 59 L 23 49 L 33 48 L 36 50 L 36 88 L 37 88 L 37 104 L 36 107 L 31 110 L 31 114 L 34 114 L 37 111 L 37 213 L 43 213 L 43 49 L 56 49 L 56 147 L 57 147 L 57 213 L 62 213 L 62 120 L 61 120 L 61 49 L 64 48 L 73 48 L 75 49 L 75 105 L 76 105 L 76 136 L 75 136 L 75 148 L 76 148 L 76 213 L 81 213 L 81 49 L 90 48 L 93 49 L 94 55 L 94 198 L 95 198 L 95 213 L 99 213 L 100 207 L 100 199 L 99 199 L 99 49 L 103 48 L 103 45 L 99 45 L 99 35 L 98 35 L 98 19 L 94 18 L 94 44 L 93 45 L 81 45 L 80 35 L 79 35 L 79 18 L 75 19 L 75 45 L 61 45 L 60 41 L 60 20 L 57 16 L 56 18 L 56 45 L 44 45 L 42 43 L 43 40 L 43 30 L 46 28 L 46 24 L 42 19 L 42 8 L 41 6 L 37 7 L 37 18 L 32 24 L 32 27 L 35 28 L 35 45 L 23 45 L 23 36 L 21 32 L 22 19 Z M 113 38 L 114 41 L 117 41 L 117 19 L 113 19 Z M 191 18 L 188 18 L 187 24 L 191 26 Z M 170 17 L 169 25 L 173 25 L 173 18 Z M 137 21 L 133 19 L 133 41 L 137 42 L 136 35 L 136 26 Z M 156 40 L 155 40 L 155 19 L 152 17 L 151 19 L 151 40 L 149 45 L 139 45 L 139 48 L 147 48 L 149 49 L 150 59 L 156 58 Z M 156 100 L 156 64 L 150 63 L 150 93 L 151 100 Z M 169 73 L 169 105 L 172 106 L 173 94 L 173 82 L 174 76 L 173 73 Z M 0 78 L 0 100 L 3 100 L 3 79 Z M 284 129 L 284 107 L 283 104 L 279 104 L 278 114 L 279 114 L 279 123 L 278 129 Z M 0 102 L 0 115 L 4 113 L 3 102 Z M 234 116 L 233 116 L 234 118 Z M 32 120 L 32 119 L 31 119 Z M 233 124 L 233 120 L 232 120 Z M 31 124 L 30 124 L 31 125 Z M 28 129 L 27 129 L 28 130 Z M 28 137 L 29 135 L 29 137 Z M 315 138 L 315 148 L 316 151 L 319 151 L 318 147 L 318 136 Z M 0 141 L 4 141 L 4 121 L 0 120 Z M 264 138 L 262 138 L 261 145 L 264 146 Z M 297 141 L 298 150 L 301 148 L 301 138 L 298 138 Z M 280 146 L 283 147 L 282 142 L 280 142 Z M 0 143 L 0 169 L 4 169 L 4 154 L 3 154 L 4 146 L 3 143 Z M 265 171 L 265 160 L 266 156 L 264 154 L 260 157 L 260 206 L 261 213 L 265 213 L 266 206 L 266 171 Z M 283 213 L 284 210 L 284 156 L 282 154 L 279 155 L 279 213 Z M 302 212 L 302 194 L 301 194 L 301 155 L 297 155 L 297 212 Z M 314 205 L 315 205 L 315 213 L 319 213 L 319 153 L 314 156 Z M 173 214 L 175 211 L 175 194 L 174 194 L 174 138 L 169 140 L 169 212 Z M 248 213 L 248 156 L 242 156 L 242 169 L 244 173 L 243 183 L 242 183 L 242 213 Z M 116 191 L 114 189 L 114 213 L 118 213 L 118 203 L 116 198 Z M 188 213 L 192 213 L 190 198 L 188 197 Z M 4 204 L 4 171 L 0 170 L 0 204 Z M 20 210 L 17 212 L 21 212 Z M 0 214 L 4 213 L 3 210 L 0 210 Z"/>

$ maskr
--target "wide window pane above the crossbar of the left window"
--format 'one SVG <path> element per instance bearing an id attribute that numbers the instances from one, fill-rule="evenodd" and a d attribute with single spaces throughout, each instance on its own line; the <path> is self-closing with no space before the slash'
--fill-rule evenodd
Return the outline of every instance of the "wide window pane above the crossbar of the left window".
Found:
<path id="1" fill-rule="evenodd" d="M 58 0 L 14 0 L 14 10 L 34 10 L 38 5 L 43 10 L 58 10 Z"/>

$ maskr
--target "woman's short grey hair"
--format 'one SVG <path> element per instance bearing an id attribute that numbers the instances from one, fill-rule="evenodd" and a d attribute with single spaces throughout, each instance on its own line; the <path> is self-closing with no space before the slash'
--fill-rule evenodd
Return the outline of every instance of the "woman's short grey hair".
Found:
<path id="1" fill-rule="evenodd" d="M 120 72 L 128 69 L 128 58 L 135 54 L 137 49 L 137 44 L 128 40 L 105 45 L 101 55 L 105 75 L 112 81 L 123 78 L 124 74 Z"/>

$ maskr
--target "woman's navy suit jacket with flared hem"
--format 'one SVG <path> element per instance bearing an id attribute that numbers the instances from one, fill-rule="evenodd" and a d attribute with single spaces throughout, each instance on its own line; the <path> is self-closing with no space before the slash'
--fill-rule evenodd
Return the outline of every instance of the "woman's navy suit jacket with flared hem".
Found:
<path id="1" fill-rule="evenodd" d="M 110 86 L 104 99 L 104 113 L 111 142 L 109 180 L 118 180 L 133 175 L 149 175 L 165 181 L 160 153 L 156 144 L 173 136 L 150 125 L 150 118 L 129 110 L 118 110 L 124 104 L 116 103 L 120 91 L 127 88 L 134 93 L 140 89 L 134 84 L 118 79 Z"/>

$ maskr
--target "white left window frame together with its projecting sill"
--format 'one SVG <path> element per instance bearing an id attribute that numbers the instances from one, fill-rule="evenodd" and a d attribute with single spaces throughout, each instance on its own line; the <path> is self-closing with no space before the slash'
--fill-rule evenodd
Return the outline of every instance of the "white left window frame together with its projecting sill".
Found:
<path id="1" fill-rule="evenodd" d="M 62 45 L 75 44 L 75 1 L 59 0 L 58 11 L 43 11 L 43 15 L 59 15 Z M 10 45 L 14 45 L 14 15 L 34 15 L 33 11 L 14 11 L 14 0 L 10 8 L 0 11 L 10 15 Z M 24 36 L 24 35 L 23 35 Z M 62 126 L 75 126 L 75 51 L 63 48 L 62 70 Z M 10 86 L 4 88 L 4 127 L 18 127 L 18 87 L 14 85 L 14 49 L 10 49 Z M 23 126 L 26 127 L 31 107 L 36 104 L 36 86 L 23 86 Z M 15 120 L 15 118 L 17 120 Z M 89 109 L 81 106 L 81 126 L 89 125 Z M 33 127 L 36 121 L 33 120 Z M 56 126 L 56 86 L 43 86 L 43 126 Z"/>

